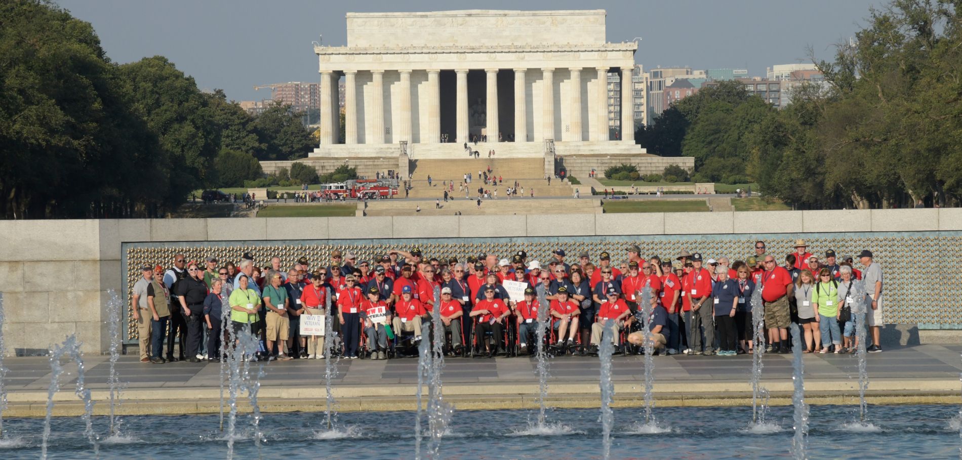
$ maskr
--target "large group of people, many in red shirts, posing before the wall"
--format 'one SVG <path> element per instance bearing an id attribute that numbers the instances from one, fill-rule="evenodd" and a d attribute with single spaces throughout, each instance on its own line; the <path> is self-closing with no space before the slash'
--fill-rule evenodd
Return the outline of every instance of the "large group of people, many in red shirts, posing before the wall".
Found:
<path id="1" fill-rule="evenodd" d="M 462 260 L 392 248 L 360 261 L 334 250 L 329 261 L 301 257 L 290 268 L 277 256 L 258 265 L 250 253 L 236 264 L 177 254 L 170 268 L 141 268 L 132 309 L 140 361 L 156 364 L 217 362 L 241 331 L 261 340 L 258 358 L 280 361 L 326 352 L 348 359 L 412 355 L 438 334 L 452 356 L 530 354 L 540 337 L 554 356 L 593 354 L 606 336 L 625 354 L 643 353 L 645 345 L 662 355 L 734 356 L 756 345 L 788 353 L 793 322 L 804 331 L 803 352 L 847 353 L 858 345 L 861 308 L 871 331 L 865 345 L 881 351 L 883 280 L 872 252 L 858 254 L 859 269 L 832 249 L 819 257 L 802 240 L 795 247 L 776 260 L 759 241 L 752 255 L 731 262 L 689 251 L 646 260 L 633 244 L 621 248 L 617 264 L 608 251 L 570 260 L 562 248 L 544 262 L 528 260 L 523 249 Z M 863 298 L 853 291 L 856 279 L 864 283 Z M 303 316 L 324 316 L 329 333 L 301 334 Z M 763 322 L 755 324 L 758 318 Z M 761 342 L 753 337 L 756 325 L 764 330 Z"/>

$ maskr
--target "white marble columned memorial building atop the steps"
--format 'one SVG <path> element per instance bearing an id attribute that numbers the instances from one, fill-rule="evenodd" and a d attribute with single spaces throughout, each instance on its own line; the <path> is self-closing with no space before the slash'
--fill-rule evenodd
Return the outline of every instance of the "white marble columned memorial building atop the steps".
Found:
<path id="1" fill-rule="evenodd" d="M 607 72 L 630 81 L 636 48 L 605 42 L 603 10 L 347 13 L 347 45 L 315 46 L 321 126 L 312 156 L 438 143 L 442 135 L 458 144 L 482 134 L 499 141 L 498 133 L 532 146 L 615 142 Z M 620 97 L 630 109 L 630 88 Z M 630 110 L 622 123 L 633 126 Z"/>

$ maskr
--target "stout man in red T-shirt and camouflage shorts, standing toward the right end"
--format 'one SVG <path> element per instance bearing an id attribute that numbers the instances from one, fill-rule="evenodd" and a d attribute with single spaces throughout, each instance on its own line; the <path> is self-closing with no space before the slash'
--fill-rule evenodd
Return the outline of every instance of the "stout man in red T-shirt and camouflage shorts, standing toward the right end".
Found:
<path id="1" fill-rule="evenodd" d="M 781 354 L 791 352 L 788 344 L 788 327 L 791 324 L 788 297 L 795 294 L 794 287 L 792 275 L 788 270 L 778 267 L 774 257 L 765 256 L 765 271 L 762 272 L 759 289 L 762 290 L 762 300 L 765 304 L 765 325 L 769 328 L 769 344 L 772 346 L 772 351 Z"/>

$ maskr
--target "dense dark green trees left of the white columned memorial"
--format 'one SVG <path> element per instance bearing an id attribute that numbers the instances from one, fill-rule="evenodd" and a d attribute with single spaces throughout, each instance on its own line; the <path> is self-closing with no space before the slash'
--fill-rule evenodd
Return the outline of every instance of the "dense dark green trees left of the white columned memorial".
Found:
<path id="1" fill-rule="evenodd" d="M 162 56 L 113 63 L 49 0 L 0 2 L 0 82 L 2 218 L 161 217 L 315 143 L 290 106 L 251 116 Z"/>

